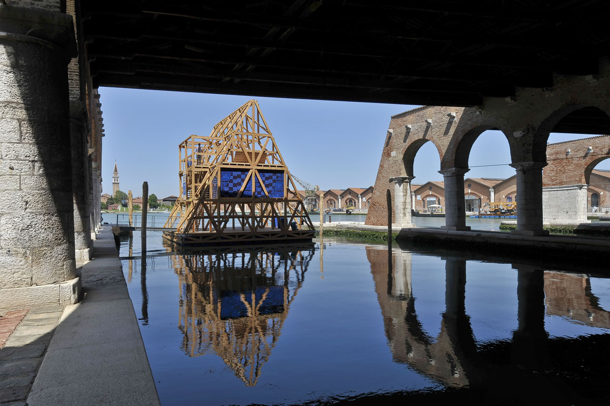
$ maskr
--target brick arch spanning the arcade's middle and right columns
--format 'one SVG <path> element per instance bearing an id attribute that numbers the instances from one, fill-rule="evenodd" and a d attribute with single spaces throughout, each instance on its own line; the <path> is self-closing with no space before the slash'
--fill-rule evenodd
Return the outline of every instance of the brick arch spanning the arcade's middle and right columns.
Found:
<path id="1" fill-rule="evenodd" d="M 473 112 L 474 110 L 469 113 L 472 115 Z M 470 121 L 464 120 L 463 122 L 469 124 L 462 124 L 462 121 L 458 123 L 458 128 L 454 130 L 451 140 L 445 149 L 443 160 L 440 162 L 442 169 L 468 168 L 468 158 L 470 157 L 472 146 L 477 138 L 479 138 L 479 135 L 487 130 L 499 130 L 504 134 L 511 150 L 511 157 L 514 156 L 514 138 L 508 137 L 507 134 L 509 133 L 503 123 L 491 117 L 472 119 Z"/>

